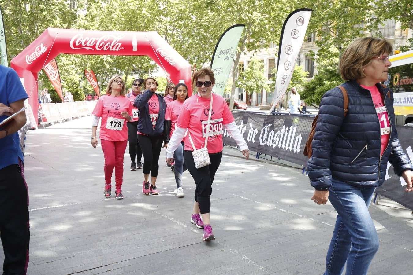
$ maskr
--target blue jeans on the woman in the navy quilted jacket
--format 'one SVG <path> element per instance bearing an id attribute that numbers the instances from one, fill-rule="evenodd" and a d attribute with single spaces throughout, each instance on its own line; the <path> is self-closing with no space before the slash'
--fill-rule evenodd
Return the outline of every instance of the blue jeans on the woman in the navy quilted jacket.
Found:
<path id="1" fill-rule="evenodd" d="M 367 274 L 379 249 L 379 239 L 368 206 L 375 188 L 351 186 L 332 179 L 328 199 L 337 211 L 333 237 L 328 248 L 324 275 Z"/>

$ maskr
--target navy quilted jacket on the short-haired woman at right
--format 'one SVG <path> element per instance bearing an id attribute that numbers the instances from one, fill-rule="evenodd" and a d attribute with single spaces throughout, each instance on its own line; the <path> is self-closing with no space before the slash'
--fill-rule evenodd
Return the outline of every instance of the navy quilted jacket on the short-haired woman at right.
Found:
<path id="1" fill-rule="evenodd" d="M 397 136 L 390 89 L 377 84 L 391 124 L 389 145 L 380 157 L 380 123 L 370 91 L 356 81 L 347 81 L 342 86 L 349 95 L 345 117 L 339 88 L 326 92 L 321 99 L 311 143 L 313 155 L 307 167 L 311 186 L 328 190 L 334 177 L 353 186 L 378 187 L 385 181 L 387 161 L 399 176 L 406 169 L 413 170 Z"/>

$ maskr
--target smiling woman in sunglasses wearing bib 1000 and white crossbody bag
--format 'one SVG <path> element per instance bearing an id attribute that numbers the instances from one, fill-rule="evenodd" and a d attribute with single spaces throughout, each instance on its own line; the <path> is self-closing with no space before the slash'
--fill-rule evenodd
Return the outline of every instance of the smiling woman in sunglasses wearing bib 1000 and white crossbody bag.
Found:
<path id="1" fill-rule="evenodd" d="M 173 162 L 173 152 L 180 146 L 185 130 L 188 128 L 188 135 L 185 138 L 184 159 L 185 165 L 188 167 L 188 171 L 194 178 L 196 185 L 191 223 L 194 223 L 198 228 L 204 228 L 202 239 L 209 241 L 215 239 L 212 233 L 209 212 L 211 209 L 212 182 L 214 181 L 216 170 L 221 163 L 224 127 L 235 139 L 238 146 L 240 146 L 246 160 L 248 160 L 249 151 L 247 143 L 242 138 L 225 99 L 222 96 L 211 93 L 212 87 L 215 84 L 214 72 L 210 68 L 198 70 L 192 76 L 192 84 L 196 85 L 198 93 L 183 103 L 175 125 L 175 131 L 166 150 L 166 161 L 169 163 Z M 210 108 L 211 101 L 212 108 Z M 208 122 L 209 113 L 211 115 Z M 194 151 L 192 142 L 194 143 L 193 146 L 199 150 L 204 147 L 207 136 L 207 150 L 211 164 L 197 169 L 192 157 L 192 151 Z"/>

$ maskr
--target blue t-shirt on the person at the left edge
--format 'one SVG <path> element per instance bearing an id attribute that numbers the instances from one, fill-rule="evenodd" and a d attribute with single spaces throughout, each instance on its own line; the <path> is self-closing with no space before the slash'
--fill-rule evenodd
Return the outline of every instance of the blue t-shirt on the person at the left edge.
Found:
<path id="1" fill-rule="evenodd" d="M 0 102 L 10 107 L 10 103 L 26 98 L 28 98 L 26 90 L 16 71 L 0 65 Z M 1 115 L 0 121 L 6 118 L 7 115 Z M 19 164 L 19 158 L 23 161 L 19 140 L 17 132 L 0 139 L 0 169 Z"/>

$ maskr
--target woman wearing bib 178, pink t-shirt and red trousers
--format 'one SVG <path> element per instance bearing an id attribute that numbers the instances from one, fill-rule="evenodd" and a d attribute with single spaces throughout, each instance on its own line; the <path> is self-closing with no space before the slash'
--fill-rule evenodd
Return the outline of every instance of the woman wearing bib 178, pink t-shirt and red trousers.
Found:
<path id="1" fill-rule="evenodd" d="M 99 138 L 104 155 L 105 197 L 112 194 L 112 173 L 115 169 L 116 199 L 123 199 L 123 155 L 128 144 L 128 127 L 125 122 L 132 121 L 132 104 L 125 96 L 125 83 L 119 75 L 114 75 L 107 84 L 106 96 L 101 96 L 93 110 L 92 141 L 96 148 L 96 130 L 99 118 Z"/>

